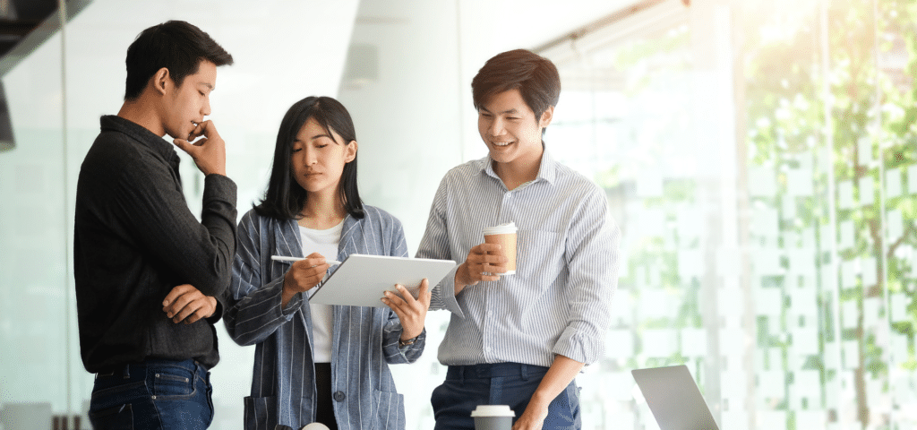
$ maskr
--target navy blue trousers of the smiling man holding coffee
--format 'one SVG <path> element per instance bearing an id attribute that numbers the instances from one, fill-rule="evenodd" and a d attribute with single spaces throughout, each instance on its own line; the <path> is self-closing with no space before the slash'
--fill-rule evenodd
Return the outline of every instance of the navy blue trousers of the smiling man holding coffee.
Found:
<path id="1" fill-rule="evenodd" d="M 449 366 L 446 380 L 436 387 L 430 402 L 436 430 L 473 430 L 473 411 L 479 404 L 508 404 L 515 413 L 513 423 L 545 377 L 547 368 L 519 363 Z M 550 403 L 544 428 L 577 430 L 580 419 L 580 389 L 570 382 Z"/>

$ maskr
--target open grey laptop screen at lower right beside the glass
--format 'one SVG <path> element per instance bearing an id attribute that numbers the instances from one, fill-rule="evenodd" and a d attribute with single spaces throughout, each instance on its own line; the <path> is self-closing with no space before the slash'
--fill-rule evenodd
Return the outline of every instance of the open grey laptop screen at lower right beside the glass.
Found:
<path id="1" fill-rule="evenodd" d="M 660 430 L 719 430 L 685 365 L 631 370 Z"/>

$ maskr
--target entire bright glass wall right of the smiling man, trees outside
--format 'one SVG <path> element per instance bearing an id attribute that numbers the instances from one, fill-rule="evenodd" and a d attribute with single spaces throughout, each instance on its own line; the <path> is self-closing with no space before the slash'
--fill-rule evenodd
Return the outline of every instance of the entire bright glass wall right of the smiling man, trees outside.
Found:
<path id="1" fill-rule="evenodd" d="M 723 428 L 915 428 L 917 5 L 675 3 L 545 50 L 624 230 L 590 428 L 657 428 L 629 370 L 682 363 Z"/>

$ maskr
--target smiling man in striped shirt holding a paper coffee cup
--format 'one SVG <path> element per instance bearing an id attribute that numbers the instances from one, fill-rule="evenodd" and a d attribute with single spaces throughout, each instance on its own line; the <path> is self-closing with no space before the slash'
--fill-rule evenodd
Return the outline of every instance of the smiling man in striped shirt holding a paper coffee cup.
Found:
<path id="1" fill-rule="evenodd" d="M 462 261 L 433 292 L 452 313 L 439 346 L 436 429 L 471 429 L 479 404 L 508 404 L 514 430 L 580 428 L 574 377 L 602 355 L 620 232 L 605 193 L 542 141 L 560 78 L 527 50 L 487 61 L 471 83 L 488 157 L 446 174 L 418 258 Z M 481 230 L 514 222 L 516 270 Z"/>

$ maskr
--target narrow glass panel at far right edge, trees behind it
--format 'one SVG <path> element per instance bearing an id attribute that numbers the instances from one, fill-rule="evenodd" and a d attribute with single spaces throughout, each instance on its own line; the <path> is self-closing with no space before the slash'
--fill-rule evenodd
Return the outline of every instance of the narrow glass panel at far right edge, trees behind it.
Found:
<path id="1" fill-rule="evenodd" d="M 917 273 L 912 270 L 917 244 L 917 129 L 913 127 L 917 117 L 913 83 L 917 5 L 891 0 L 875 3 L 876 95 L 872 101 L 878 107 L 873 111 L 878 126 L 872 142 L 877 160 L 871 163 L 870 176 L 877 202 L 870 208 L 875 221 L 869 231 L 871 248 L 878 254 L 880 281 L 870 292 L 880 300 L 882 329 L 867 346 L 871 352 L 867 370 L 880 377 L 882 387 L 867 391 L 872 397 L 860 404 L 869 405 L 871 422 L 890 422 L 891 428 L 904 429 L 917 426 L 917 416 L 911 413 L 917 406 L 913 353 Z"/>

